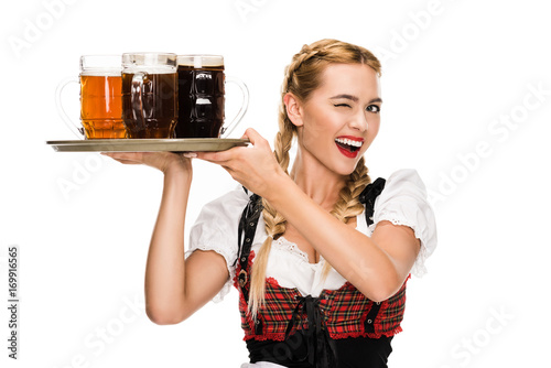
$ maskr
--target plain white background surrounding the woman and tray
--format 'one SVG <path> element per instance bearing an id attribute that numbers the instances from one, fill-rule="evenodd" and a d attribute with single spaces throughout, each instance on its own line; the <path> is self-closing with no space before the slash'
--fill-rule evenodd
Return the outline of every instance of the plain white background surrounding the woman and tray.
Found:
<path id="1" fill-rule="evenodd" d="M 439 248 L 428 261 L 429 273 L 409 282 L 404 332 L 392 343 L 390 367 L 544 366 L 551 327 L 544 279 L 551 25 L 542 3 L 28 0 L 12 1 L 10 9 L 4 3 L 1 366 L 247 361 L 235 290 L 175 326 L 147 318 L 143 271 L 162 175 L 95 153 L 54 152 L 46 140 L 74 139 L 56 111 L 55 89 L 78 74 L 83 54 L 223 54 L 226 73 L 244 79 L 251 94 L 233 136 L 253 127 L 271 142 L 283 67 L 304 43 L 323 37 L 360 44 L 383 62 L 381 130 L 366 155 L 371 176 L 417 169 L 436 210 Z M 543 93 L 534 94 L 538 88 Z M 228 100 L 238 99 L 229 93 L 228 87 Z M 77 96 L 75 90 L 73 102 Z M 235 185 L 222 169 L 194 162 L 187 229 L 202 204 Z M 3 306 L 11 245 L 20 249 L 17 361 L 8 358 Z"/>

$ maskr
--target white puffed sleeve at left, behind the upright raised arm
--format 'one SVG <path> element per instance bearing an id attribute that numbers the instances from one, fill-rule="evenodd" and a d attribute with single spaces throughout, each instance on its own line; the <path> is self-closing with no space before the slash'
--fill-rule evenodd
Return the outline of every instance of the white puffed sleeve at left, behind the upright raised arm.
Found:
<path id="1" fill-rule="evenodd" d="M 195 250 L 214 250 L 223 256 L 229 272 L 229 278 L 220 292 L 213 299 L 220 302 L 231 290 L 235 275 L 233 266 L 237 259 L 237 231 L 239 219 L 247 206 L 248 195 L 241 186 L 224 196 L 207 203 L 190 230 L 190 249 L 187 258 Z"/>

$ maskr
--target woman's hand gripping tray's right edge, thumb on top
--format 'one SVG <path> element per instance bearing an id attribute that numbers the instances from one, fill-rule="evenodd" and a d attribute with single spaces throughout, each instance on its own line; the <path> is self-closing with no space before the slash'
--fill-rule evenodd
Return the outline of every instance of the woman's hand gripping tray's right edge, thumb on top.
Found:
<path id="1" fill-rule="evenodd" d="M 260 196 L 269 191 L 270 183 L 283 174 L 270 144 L 255 129 L 245 131 L 252 147 L 236 147 L 220 152 L 196 152 L 197 159 L 219 164 L 247 190 Z"/>

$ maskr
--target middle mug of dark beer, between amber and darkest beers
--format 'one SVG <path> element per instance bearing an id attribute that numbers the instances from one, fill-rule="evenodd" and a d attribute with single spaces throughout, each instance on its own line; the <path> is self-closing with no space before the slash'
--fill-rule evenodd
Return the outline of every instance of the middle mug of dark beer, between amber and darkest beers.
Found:
<path id="1" fill-rule="evenodd" d="M 128 138 L 174 138 L 176 54 L 122 54 L 122 119 Z"/>

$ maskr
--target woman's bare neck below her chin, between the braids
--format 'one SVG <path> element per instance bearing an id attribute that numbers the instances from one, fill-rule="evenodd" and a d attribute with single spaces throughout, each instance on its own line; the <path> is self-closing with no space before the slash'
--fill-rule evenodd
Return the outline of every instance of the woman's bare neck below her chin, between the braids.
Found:
<path id="1" fill-rule="evenodd" d="M 338 193 L 347 178 L 332 172 L 314 158 L 302 154 L 300 149 L 289 175 L 312 201 L 328 212 L 338 201 Z"/>

